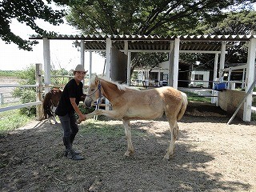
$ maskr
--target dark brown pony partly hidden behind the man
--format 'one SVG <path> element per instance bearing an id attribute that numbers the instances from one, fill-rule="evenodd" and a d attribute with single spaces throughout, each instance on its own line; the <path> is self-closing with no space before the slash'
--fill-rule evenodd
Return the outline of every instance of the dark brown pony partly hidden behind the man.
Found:
<path id="1" fill-rule="evenodd" d="M 62 96 L 62 90 L 53 88 L 50 90 L 43 99 L 42 108 L 45 118 L 48 118 L 50 124 L 57 123 L 55 118 L 55 110 L 58 106 L 58 102 Z"/>

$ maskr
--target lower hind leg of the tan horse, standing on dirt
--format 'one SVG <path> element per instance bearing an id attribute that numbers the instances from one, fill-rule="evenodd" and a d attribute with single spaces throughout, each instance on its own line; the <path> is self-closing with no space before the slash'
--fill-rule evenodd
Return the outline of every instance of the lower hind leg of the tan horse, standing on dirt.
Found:
<path id="1" fill-rule="evenodd" d="M 174 155 L 175 141 L 178 137 L 178 124 L 176 119 L 168 120 L 170 125 L 170 146 L 167 148 L 164 158 L 170 159 Z"/>

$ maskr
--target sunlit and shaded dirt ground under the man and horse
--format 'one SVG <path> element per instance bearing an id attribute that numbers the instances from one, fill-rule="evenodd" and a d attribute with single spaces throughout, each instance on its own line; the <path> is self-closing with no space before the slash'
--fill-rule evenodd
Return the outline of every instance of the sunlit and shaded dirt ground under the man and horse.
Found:
<path id="1" fill-rule="evenodd" d="M 102 122 L 83 122 L 78 162 L 63 157 L 60 124 L 31 122 L 0 138 L 0 191 L 256 191 L 255 122 L 228 126 L 229 119 L 216 106 L 190 103 L 170 161 L 163 119 L 132 122 L 130 158 L 122 122 L 104 122 L 108 134 L 98 132 Z"/>

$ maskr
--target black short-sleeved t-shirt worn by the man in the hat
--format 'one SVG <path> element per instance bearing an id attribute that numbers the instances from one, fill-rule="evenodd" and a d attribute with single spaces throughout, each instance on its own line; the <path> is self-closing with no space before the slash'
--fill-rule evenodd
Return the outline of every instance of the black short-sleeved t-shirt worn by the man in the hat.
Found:
<path id="1" fill-rule="evenodd" d="M 72 78 L 62 91 L 62 97 L 58 103 L 55 114 L 58 114 L 58 116 L 64 116 L 68 113 L 74 113 L 74 108 L 71 105 L 70 98 L 75 98 L 75 102 L 78 105 L 82 94 L 82 82 L 79 82 L 78 85 L 74 78 Z"/>

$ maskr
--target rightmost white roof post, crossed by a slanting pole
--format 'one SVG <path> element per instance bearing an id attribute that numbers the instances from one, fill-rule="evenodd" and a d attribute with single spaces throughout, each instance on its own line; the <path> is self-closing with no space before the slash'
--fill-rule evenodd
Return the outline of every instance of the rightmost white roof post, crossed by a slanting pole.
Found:
<path id="1" fill-rule="evenodd" d="M 254 66 L 255 66 L 255 51 L 256 51 L 256 38 L 250 39 L 247 55 L 246 67 L 246 92 L 249 91 L 250 86 L 254 82 Z M 252 105 L 253 92 L 250 91 L 243 106 L 243 121 L 250 122 L 251 118 L 251 105 Z"/>

